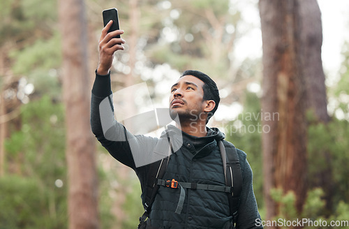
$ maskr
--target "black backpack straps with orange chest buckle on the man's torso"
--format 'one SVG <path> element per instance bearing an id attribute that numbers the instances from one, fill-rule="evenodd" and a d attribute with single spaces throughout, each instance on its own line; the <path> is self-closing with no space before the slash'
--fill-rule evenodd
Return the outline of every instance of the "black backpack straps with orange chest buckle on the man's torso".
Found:
<path id="1" fill-rule="evenodd" d="M 225 143 L 226 141 L 224 141 Z M 171 189 L 181 189 L 179 194 L 179 201 L 176 212 L 180 214 L 181 207 L 184 203 L 185 191 L 184 189 L 203 189 L 209 191 L 222 191 L 227 193 L 228 202 L 230 208 L 230 215 L 232 216 L 232 224 L 235 226 L 237 222 L 240 194 L 242 191 L 242 170 L 239 163 L 239 156 L 237 155 L 237 149 L 234 145 L 223 143 L 223 140 L 218 141 L 218 147 L 221 152 L 223 161 L 223 170 L 225 176 L 225 186 L 197 184 L 187 182 L 177 182 L 176 180 L 163 180 L 168 161 L 170 161 L 170 154 L 168 157 L 163 158 L 160 161 L 156 161 L 149 165 L 149 171 L 147 173 L 147 181 L 145 189 L 142 193 L 142 203 L 144 207 L 144 214 L 140 216 L 140 224 L 138 229 L 148 228 L 147 219 L 151 212 L 151 205 L 155 200 L 156 193 L 160 186 L 165 186 Z M 172 149 L 170 149 L 172 150 Z"/>

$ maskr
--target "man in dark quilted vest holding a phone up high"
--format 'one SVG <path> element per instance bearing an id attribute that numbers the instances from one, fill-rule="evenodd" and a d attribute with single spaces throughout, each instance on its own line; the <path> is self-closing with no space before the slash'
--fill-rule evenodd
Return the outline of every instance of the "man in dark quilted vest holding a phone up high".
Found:
<path id="1" fill-rule="evenodd" d="M 115 121 L 113 115 L 103 113 L 104 110 L 113 110 L 110 103 L 110 68 L 114 52 L 124 50 L 122 44 L 125 43 L 121 38 L 113 38 L 123 31 L 107 34 L 111 24 L 103 29 L 99 40 L 99 63 L 92 89 L 91 128 L 96 138 L 114 158 L 135 170 L 142 191 L 151 163 L 140 164 L 136 159 L 142 155 L 147 155 L 144 158 L 156 158 L 156 152 L 166 148 L 158 147 L 164 139 L 165 142 L 170 139 L 172 149 L 164 180 L 178 182 L 179 186 L 184 183 L 195 184 L 195 187 L 197 184 L 225 186 L 223 161 L 217 143 L 223 140 L 224 134 L 217 128 L 206 126 L 218 108 L 220 98 L 216 83 L 204 73 L 186 71 L 172 85 L 170 117 L 176 121 L 176 126 L 168 126 L 160 138 L 133 135 Z M 226 144 L 231 145 L 229 142 Z M 246 154 L 239 149 L 237 154 L 242 170 L 242 193 L 236 226 L 260 228 L 255 225 L 260 215 L 253 193 L 252 170 Z M 159 187 L 151 206 L 146 228 L 233 228 L 232 218 L 227 193 L 196 188 L 170 189 L 169 185 L 163 185 Z"/>

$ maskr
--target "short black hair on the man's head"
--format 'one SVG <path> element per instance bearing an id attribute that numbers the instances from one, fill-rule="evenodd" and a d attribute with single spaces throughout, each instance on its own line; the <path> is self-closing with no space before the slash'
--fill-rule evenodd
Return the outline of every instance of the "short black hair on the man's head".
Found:
<path id="1" fill-rule="evenodd" d="M 204 86 L 202 87 L 202 89 L 204 91 L 203 100 L 204 101 L 213 100 L 216 103 L 216 105 L 214 106 L 214 109 L 211 110 L 211 112 L 209 112 L 209 114 L 207 116 L 207 121 L 206 121 L 206 123 L 207 123 L 209 121 L 209 119 L 214 115 L 214 112 L 216 112 L 216 110 L 218 108 L 219 101 L 221 101 L 221 98 L 219 97 L 219 91 L 218 91 L 217 84 L 208 75 L 206 75 L 205 73 L 202 73 L 200 71 L 187 70 L 181 75 L 181 77 L 183 77 L 184 75 L 193 75 L 194 77 L 197 77 L 199 80 L 202 80 L 202 82 L 205 83 Z"/>

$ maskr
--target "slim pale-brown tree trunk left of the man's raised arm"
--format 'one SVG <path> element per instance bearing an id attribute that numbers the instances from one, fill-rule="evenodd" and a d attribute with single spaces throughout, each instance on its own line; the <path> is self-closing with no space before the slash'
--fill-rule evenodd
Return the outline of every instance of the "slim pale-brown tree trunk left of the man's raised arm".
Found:
<path id="1" fill-rule="evenodd" d="M 83 0 L 59 1 L 70 229 L 99 228 L 95 142 L 89 124 L 91 87 L 84 11 Z"/>

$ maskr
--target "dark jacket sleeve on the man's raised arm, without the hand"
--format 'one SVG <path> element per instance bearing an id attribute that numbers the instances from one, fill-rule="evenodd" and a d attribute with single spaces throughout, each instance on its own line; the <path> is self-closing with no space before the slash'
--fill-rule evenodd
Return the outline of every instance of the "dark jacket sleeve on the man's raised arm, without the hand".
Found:
<path id="1" fill-rule="evenodd" d="M 98 75 L 91 96 L 91 130 L 96 138 L 117 161 L 136 168 L 147 164 L 157 138 L 133 135 L 114 119 L 110 74 Z"/>

